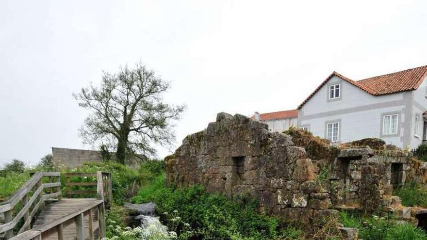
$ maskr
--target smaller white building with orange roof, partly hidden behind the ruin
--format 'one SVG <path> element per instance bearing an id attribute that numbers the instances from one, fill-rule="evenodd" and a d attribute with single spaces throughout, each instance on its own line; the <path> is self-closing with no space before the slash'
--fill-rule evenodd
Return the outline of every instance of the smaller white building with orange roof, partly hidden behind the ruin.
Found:
<path id="1" fill-rule="evenodd" d="M 270 131 L 279 131 L 282 132 L 287 130 L 289 127 L 297 127 L 298 121 L 298 110 L 288 110 L 280 112 L 267 112 L 267 113 L 258 113 L 252 116 L 252 118 L 266 123 L 268 125 L 268 130 Z"/>

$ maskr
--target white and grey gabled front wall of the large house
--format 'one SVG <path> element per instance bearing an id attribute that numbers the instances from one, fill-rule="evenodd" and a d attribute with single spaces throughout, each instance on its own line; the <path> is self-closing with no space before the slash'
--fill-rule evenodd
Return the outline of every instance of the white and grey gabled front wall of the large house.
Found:
<path id="1" fill-rule="evenodd" d="M 341 98 L 328 100 L 328 86 L 341 83 Z M 397 113 L 398 133 L 382 135 L 384 114 Z M 372 96 L 336 76 L 332 77 L 298 112 L 298 126 L 308 126 L 319 137 L 326 138 L 326 122 L 341 122 L 340 142 L 377 137 L 398 147 L 411 144 L 412 92 Z"/>

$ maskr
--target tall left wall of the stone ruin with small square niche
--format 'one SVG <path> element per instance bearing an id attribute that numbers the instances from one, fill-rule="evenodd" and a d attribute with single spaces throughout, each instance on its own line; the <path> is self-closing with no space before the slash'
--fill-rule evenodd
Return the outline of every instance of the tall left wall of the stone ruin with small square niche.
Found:
<path id="1" fill-rule="evenodd" d="M 337 210 L 318 181 L 305 149 L 291 137 L 244 115 L 218 113 L 216 122 L 188 135 L 166 157 L 166 183 L 202 184 L 209 192 L 233 198 L 247 194 L 260 210 L 290 221 L 321 224 Z"/>

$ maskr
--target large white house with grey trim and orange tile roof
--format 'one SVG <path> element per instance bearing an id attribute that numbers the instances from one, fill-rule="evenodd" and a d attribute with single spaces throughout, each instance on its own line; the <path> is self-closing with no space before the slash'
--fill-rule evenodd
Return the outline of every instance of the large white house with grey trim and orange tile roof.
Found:
<path id="1" fill-rule="evenodd" d="M 332 142 L 416 148 L 426 140 L 426 76 L 427 66 L 358 81 L 333 72 L 298 106 L 298 127 Z"/>

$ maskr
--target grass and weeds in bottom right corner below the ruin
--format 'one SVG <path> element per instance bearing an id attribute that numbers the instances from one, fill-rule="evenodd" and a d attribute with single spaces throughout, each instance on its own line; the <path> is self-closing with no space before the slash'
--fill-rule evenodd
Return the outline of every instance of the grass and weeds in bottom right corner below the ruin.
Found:
<path id="1" fill-rule="evenodd" d="M 395 224 L 389 217 L 360 217 L 340 213 L 340 222 L 345 227 L 359 229 L 364 240 L 427 240 L 426 233 L 411 224 Z"/>

